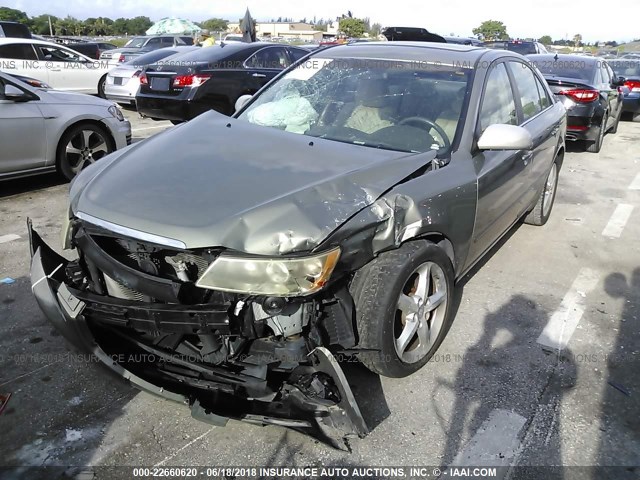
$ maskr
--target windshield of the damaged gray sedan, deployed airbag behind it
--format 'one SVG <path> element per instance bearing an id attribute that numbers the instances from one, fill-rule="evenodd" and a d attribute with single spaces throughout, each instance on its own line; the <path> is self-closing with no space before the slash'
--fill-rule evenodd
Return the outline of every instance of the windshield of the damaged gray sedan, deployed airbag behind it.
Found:
<path id="1" fill-rule="evenodd" d="M 365 147 L 446 150 L 469 69 L 396 60 L 311 57 L 239 115 L 256 125 Z"/>

